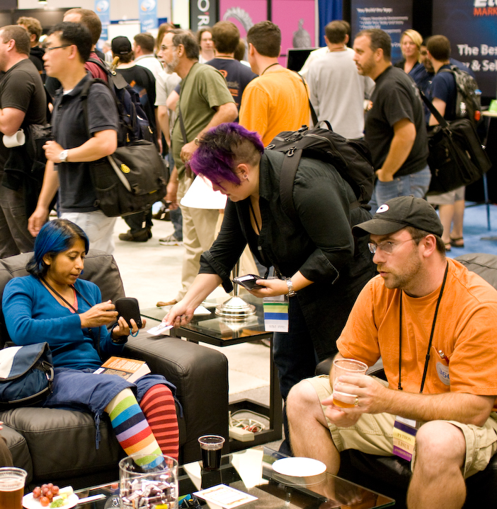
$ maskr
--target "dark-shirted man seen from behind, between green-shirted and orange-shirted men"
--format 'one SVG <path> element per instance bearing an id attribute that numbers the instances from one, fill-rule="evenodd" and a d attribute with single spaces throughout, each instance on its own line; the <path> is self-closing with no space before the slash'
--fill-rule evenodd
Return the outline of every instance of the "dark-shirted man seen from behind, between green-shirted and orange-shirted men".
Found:
<path id="1" fill-rule="evenodd" d="M 236 107 L 240 109 L 241 95 L 253 78 L 257 78 L 257 74 L 254 74 L 250 67 L 234 59 L 234 52 L 240 40 L 240 31 L 234 23 L 218 21 L 212 27 L 211 33 L 216 57 L 205 63 L 215 67 L 224 76 Z"/>

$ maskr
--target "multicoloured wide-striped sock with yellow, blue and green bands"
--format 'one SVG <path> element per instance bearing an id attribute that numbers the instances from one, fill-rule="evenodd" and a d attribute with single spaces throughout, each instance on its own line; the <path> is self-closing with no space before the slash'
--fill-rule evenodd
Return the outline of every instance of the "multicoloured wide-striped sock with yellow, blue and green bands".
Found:
<path id="1" fill-rule="evenodd" d="M 150 429 L 131 389 L 122 390 L 106 407 L 115 437 L 127 455 L 137 452 L 144 455 L 137 464 L 154 467 L 161 460 L 152 455 L 162 454 L 161 448 Z"/>

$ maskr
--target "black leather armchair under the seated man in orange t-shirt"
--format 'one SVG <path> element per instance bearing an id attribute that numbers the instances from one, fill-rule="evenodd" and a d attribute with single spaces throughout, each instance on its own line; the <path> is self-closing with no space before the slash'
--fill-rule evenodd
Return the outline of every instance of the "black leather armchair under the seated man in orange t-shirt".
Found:
<path id="1" fill-rule="evenodd" d="M 456 258 L 470 271 L 479 274 L 485 281 L 497 288 L 497 256 L 494 254 L 472 253 Z M 332 358 L 319 363 L 316 375 L 327 375 Z M 369 375 L 384 378 L 382 368 L 371 368 Z M 375 456 L 358 450 L 341 453 L 339 476 L 362 486 L 391 496 L 395 507 L 406 508 L 406 493 L 411 479 L 410 463 L 396 456 Z M 495 508 L 497 506 L 497 454 L 493 455 L 484 471 L 469 477 L 466 481 L 467 499 L 464 509 Z"/>

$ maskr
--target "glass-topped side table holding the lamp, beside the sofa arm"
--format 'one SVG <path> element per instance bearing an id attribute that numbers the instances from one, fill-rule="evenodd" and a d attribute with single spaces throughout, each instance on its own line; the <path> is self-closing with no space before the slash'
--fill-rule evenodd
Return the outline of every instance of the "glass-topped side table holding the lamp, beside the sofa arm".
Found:
<path id="1" fill-rule="evenodd" d="M 208 315 L 195 315 L 188 325 L 177 329 L 171 329 L 171 337 L 181 337 L 195 343 L 207 343 L 214 346 L 231 346 L 234 344 L 269 339 L 273 348 L 273 332 L 264 330 L 263 300 L 251 296 L 243 296 L 244 300 L 256 307 L 256 314 L 247 317 L 242 322 L 229 322 L 215 315 L 216 305 L 224 303 L 227 296 L 205 300 L 202 305 L 210 311 Z M 162 320 L 171 306 L 164 308 L 147 308 L 140 310 L 140 314 L 152 320 Z M 272 356 L 271 356 L 272 358 Z M 282 399 L 280 394 L 280 382 L 278 370 L 273 361 L 270 363 L 270 387 L 269 405 L 254 402 L 251 399 L 241 399 L 229 404 L 232 412 L 249 410 L 265 416 L 269 421 L 267 429 L 259 431 L 251 440 L 250 444 L 231 439 L 229 450 L 240 450 L 247 445 L 262 445 L 275 440 L 280 440 L 282 433 Z"/>

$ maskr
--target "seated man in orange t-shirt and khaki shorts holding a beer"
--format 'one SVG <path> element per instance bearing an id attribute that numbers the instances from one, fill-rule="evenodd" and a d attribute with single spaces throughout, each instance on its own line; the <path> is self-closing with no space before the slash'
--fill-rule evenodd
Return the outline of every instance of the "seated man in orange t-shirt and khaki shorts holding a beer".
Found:
<path id="1" fill-rule="evenodd" d="M 342 408 L 321 376 L 287 399 L 292 451 L 331 474 L 345 449 L 394 454 L 394 423 L 397 430 L 416 421 L 409 508 L 461 508 L 464 479 L 497 451 L 497 291 L 445 257 L 442 230 L 430 204 L 415 197 L 389 200 L 353 227 L 356 237 L 370 234 L 379 276 L 358 296 L 337 358 L 370 366 L 381 357 L 388 385 L 341 376 L 336 399 L 350 406 Z"/>

